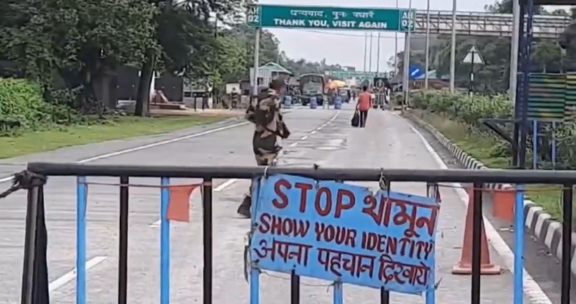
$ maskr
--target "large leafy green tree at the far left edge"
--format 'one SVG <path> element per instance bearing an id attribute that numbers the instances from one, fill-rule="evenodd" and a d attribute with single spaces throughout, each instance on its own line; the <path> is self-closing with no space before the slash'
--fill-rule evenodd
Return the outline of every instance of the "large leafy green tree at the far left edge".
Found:
<path id="1" fill-rule="evenodd" d="M 10 0 L 2 7 L 0 54 L 48 88 L 54 75 L 82 86 L 84 105 L 109 71 L 154 45 L 153 8 L 139 0 Z"/>

